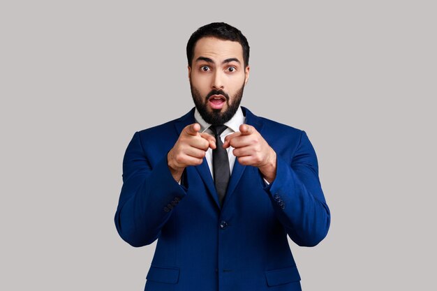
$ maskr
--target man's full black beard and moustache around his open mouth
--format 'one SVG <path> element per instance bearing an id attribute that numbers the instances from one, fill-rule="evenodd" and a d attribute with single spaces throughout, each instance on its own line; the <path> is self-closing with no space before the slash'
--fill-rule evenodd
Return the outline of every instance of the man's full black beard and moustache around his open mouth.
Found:
<path id="1" fill-rule="evenodd" d="M 208 124 L 212 124 L 212 125 L 225 124 L 226 122 L 230 121 L 230 119 L 235 115 L 235 112 L 237 112 L 239 103 L 242 102 L 243 91 L 244 91 L 244 84 L 243 84 L 243 86 L 237 91 L 235 96 L 232 97 L 232 104 L 229 105 L 229 96 L 228 94 L 225 94 L 225 92 L 222 90 L 212 90 L 204 98 L 200 96 L 200 92 L 193 87 L 191 82 L 190 82 L 190 87 L 191 87 L 191 96 L 193 96 L 195 107 L 198 109 L 200 116 L 202 117 L 203 120 L 207 121 Z M 225 96 L 226 104 L 228 105 L 228 110 L 226 110 L 225 112 L 221 112 L 221 109 L 213 109 L 212 112 L 209 112 L 207 110 L 208 99 L 209 97 L 215 94 Z"/>

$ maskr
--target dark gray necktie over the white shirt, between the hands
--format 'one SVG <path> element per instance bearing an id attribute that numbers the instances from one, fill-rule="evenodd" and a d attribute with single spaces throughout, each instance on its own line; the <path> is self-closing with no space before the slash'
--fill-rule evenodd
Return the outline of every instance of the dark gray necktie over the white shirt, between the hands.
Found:
<path id="1" fill-rule="evenodd" d="M 220 135 L 225 131 L 228 126 L 218 125 L 211 126 L 212 133 L 216 137 L 216 149 L 212 150 L 212 166 L 214 170 L 214 184 L 216 184 L 216 191 L 218 194 L 218 200 L 223 205 L 223 199 L 228 188 L 230 169 L 228 151 L 223 149 L 223 142 Z"/>

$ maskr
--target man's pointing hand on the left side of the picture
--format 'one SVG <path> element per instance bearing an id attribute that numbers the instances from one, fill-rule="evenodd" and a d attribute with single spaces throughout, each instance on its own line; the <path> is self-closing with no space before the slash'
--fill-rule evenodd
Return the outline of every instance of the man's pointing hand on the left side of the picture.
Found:
<path id="1" fill-rule="evenodd" d="M 207 133 L 199 133 L 200 124 L 190 124 L 183 130 L 175 146 L 168 152 L 168 168 L 179 181 L 189 165 L 200 165 L 208 148 L 216 148 L 216 139 Z"/>

